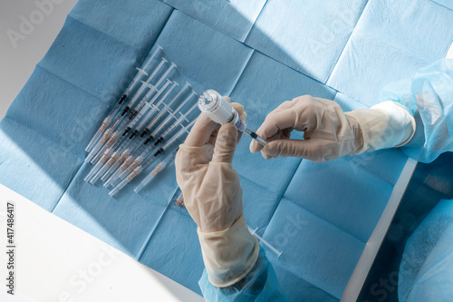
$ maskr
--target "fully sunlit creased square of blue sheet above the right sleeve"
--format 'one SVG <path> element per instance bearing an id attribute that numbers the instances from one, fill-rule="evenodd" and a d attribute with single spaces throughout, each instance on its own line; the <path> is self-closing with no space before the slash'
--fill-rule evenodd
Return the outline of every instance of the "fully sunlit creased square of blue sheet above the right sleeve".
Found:
<path id="1" fill-rule="evenodd" d="M 432 1 L 369 1 L 327 84 L 373 105 L 386 84 L 445 57 L 451 20 L 453 11 Z"/>

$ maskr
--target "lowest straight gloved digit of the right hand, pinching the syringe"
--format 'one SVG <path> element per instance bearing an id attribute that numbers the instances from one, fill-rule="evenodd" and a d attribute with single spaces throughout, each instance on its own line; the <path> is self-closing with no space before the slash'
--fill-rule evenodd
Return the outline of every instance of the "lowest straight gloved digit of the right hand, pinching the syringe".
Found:
<path id="1" fill-rule="evenodd" d="M 263 152 L 267 157 L 300 157 L 311 161 L 325 161 L 329 151 L 320 140 L 276 140 L 269 141 Z M 265 157 L 266 158 L 266 157 Z"/>

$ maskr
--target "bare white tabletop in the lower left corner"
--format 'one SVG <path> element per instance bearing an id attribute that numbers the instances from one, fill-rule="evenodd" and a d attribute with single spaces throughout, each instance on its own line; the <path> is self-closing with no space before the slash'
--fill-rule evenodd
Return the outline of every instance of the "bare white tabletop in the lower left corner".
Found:
<path id="1" fill-rule="evenodd" d="M 14 297 L 0 301 L 204 301 L 196 293 L 34 202 L 0 185 L 0 276 L 6 251 L 7 203 L 14 204 Z M 5 283 L 3 281 L 2 283 Z"/>

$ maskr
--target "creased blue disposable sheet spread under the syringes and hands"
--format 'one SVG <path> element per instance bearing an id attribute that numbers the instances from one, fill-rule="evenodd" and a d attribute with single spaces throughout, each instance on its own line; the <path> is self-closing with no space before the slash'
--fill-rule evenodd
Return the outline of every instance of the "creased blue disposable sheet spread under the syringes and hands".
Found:
<path id="1" fill-rule="evenodd" d="M 201 294 L 196 225 L 174 204 L 174 165 L 140 194 L 132 181 L 115 199 L 83 181 L 92 167 L 84 149 L 135 67 L 161 45 L 178 65 L 173 80 L 230 95 L 256 129 L 303 94 L 345 110 L 380 102 L 383 85 L 446 54 L 452 16 L 429 0 L 80 0 L 0 122 L 0 182 Z M 339 301 L 407 156 L 265 161 L 249 142 L 243 137 L 233 162 L 246 220 L 283 252 L 260 258 L 253 278 L 265 288 L 261 298 L 279 295 L 276 276 L 291 301 Z M 247 288 L 248 298 L 260 296 L 252 281 Z"/>

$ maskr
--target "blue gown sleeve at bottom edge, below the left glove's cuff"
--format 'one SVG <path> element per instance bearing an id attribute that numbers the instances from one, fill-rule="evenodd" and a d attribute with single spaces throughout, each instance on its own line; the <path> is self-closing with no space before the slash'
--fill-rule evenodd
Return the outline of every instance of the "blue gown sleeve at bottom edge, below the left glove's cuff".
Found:
<path id="1" fill-rule="evenodd" d="M 289 301 L 280 290 L 275 270 L 261 247 L 254 268 L 236 284 L 230 287 L 214 287 L 209 283 L 205 269 L 198 285 L 206 301 Z"/>

